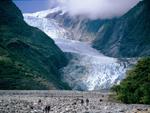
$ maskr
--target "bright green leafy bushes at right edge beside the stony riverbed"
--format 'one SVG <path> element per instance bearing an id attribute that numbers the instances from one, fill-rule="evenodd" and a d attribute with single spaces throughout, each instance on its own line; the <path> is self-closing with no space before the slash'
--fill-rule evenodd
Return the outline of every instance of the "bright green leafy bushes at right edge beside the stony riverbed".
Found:
<path id="1" fill-rule="evenodd" d="M 150 104 L 150 57 L 138 61 L 127 78 L 112 89 L 122 102 Z"/>

